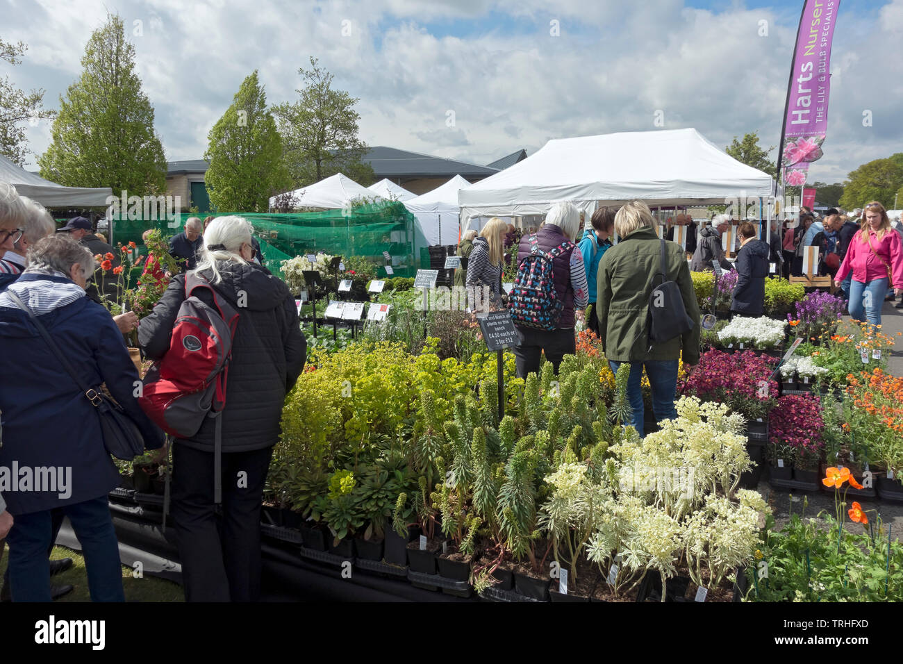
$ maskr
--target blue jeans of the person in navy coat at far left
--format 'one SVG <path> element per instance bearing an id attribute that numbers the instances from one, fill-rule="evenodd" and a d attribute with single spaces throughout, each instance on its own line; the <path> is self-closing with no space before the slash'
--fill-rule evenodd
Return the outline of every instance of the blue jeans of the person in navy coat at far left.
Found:
<path id="1" fill-rule="evenodd" d="M 79 538 L 92 602 L 125 602 L 119 545 L 107 496 L 60 508 Z M 51 510 L 15 517 L 9 544 L 10 591 L 14 602 L 51 602 Z"/>

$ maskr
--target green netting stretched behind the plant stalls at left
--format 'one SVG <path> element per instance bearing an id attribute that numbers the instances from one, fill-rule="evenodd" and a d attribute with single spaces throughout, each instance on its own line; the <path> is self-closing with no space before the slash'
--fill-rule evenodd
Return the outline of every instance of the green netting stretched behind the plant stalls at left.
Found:
<path id="1" fill-rule="evenodd" d="M 214 216 L 237 214 L 254 227 L 264 254 L 265 265 L 278 272 L 286 258 L 325 252 L 346 257 L 368 257 L 382 266 L 383 252 L 392 257 L 396 276 L 414 276 L 414 215 L 399 202 L 372 203 L 351 210 L 325 210 L 303 214 L 261 214 L 228 212 Z M 176 220 L 116 220 L 113 241 L 142 245 L 141 235 L 147 229 L 161 229 L 163 237 L 182 232 L 183 222 L 191 215 Z M 144 252 L 142 252 L 144 253 Z"/>

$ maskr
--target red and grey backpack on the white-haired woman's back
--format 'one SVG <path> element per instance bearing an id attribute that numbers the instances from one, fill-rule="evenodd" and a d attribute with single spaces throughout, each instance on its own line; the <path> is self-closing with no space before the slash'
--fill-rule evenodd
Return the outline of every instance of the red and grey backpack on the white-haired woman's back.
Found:
<path id="1" fill-rule="evenodd" d="M 195 295 L 199 289 L 213 295 L 214 306 Z M 206 279 L 189 272 L 185 299 L 172 325 L 170 350 L 148 369 L 142 396 L 137 399 L 144 413 L 176 438 L 190 438 L 198 433 L 205 417 L 215 417 L 218 467 L 222 447 L 219 413 L 226 406 L 228 362 L 237 325 L 238 313 L 232 305 Z"/>

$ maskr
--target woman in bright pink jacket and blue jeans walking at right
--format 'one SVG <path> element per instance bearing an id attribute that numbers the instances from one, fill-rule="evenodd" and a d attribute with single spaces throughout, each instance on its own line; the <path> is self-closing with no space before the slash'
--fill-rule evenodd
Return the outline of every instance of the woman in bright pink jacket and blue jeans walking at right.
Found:
<path id="1" fill-rule="evenodd" d="M 862 228 L 853 236 L 834 281 L 843 281 L 852 271 L 851 317 L 880 325 L 888 286 L 892 284 L 897 295 L 903 294 L 903 247 L 880 202 L 867 204 L 862 216 Z"/>

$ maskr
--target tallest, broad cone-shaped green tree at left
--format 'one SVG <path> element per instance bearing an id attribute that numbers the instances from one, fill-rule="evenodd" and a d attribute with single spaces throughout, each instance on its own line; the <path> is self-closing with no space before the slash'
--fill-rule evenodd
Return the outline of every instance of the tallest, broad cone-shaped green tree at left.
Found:
<path id="1" fill-rule="evenodd" d="M 166 188 L 166 157 L 154 131 L 154 107 L 135 74 L 135 46 L 122 19 L 107 14 L 81 59 L 81 78 L 60 98 L 42 177 L 79 187 L 143 196 Z"/>

